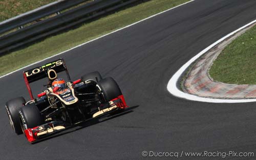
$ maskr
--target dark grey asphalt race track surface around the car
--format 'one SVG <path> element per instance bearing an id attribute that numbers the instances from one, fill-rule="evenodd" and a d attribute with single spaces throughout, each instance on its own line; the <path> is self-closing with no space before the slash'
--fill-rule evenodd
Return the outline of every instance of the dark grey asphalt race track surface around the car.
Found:
<path id="1" fill-rule="evenodd" d="M 29 99 L 22 71 L 1 78 L 0 159 L 157 159 L 142 157 L 144 150 L 256 154 L 255 103 L 188 101 L 166 89 L 190 58 L 254 20 L 255 8 L 254 0 L 196 0 L 52 58 L 66 60 L 72 79 L 94 70 L 113 76 L 131 110 L 34 145 L 13 133 L 4 109 L 12 97 Z M 221 159 L 179 159 L 208 158 Z"/>

